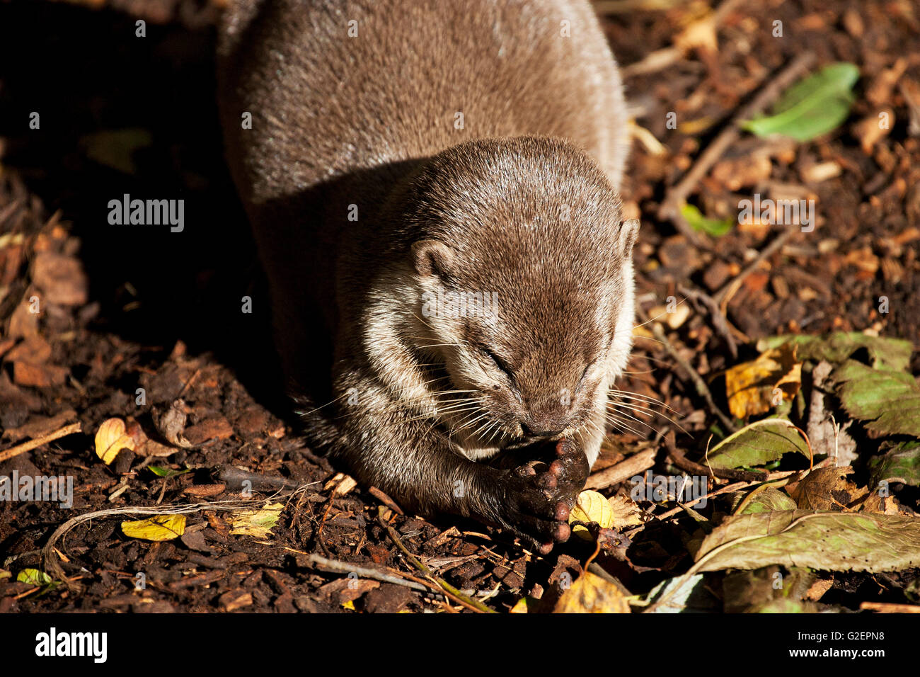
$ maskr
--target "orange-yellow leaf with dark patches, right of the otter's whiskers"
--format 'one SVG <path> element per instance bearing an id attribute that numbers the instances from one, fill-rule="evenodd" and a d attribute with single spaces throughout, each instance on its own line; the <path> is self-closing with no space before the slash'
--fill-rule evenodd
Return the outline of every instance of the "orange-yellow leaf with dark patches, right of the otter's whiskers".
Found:
<path id="1" fill-rule="evenodd" d="M 783 400 L 791 400 L 801 385 L 801 362 L 796 346 L 783 344 L 725 372 L 729 409 L 736 418 L 765 414 Z"/>

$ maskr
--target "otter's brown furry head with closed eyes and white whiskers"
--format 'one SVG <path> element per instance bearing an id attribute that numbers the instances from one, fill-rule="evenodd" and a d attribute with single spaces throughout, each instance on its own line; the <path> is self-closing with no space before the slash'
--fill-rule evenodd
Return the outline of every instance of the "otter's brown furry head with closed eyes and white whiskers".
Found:
<path id="1" fill-rule="evenodd" d="M 449 376 L 454 436 L 603 426 L 631 346 L 638 223 L 601 169 L 560 140 L 477 140 L 432 158 L 410 195 L 415 347 Z"/>

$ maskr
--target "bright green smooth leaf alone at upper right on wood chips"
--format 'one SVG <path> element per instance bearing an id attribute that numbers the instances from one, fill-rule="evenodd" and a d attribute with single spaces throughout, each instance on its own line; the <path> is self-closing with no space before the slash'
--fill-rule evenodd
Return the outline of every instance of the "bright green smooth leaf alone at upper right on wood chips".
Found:
<path id="1" fill-rule="evenodd" d="M 833 131 L 849 115 L 853 86 L 859 79 L 856 64 L 831 64 L 799 80 L 776 102 L 773 115 L 742 123 L 757 136 L 782 134 L 797 141 Z"/>

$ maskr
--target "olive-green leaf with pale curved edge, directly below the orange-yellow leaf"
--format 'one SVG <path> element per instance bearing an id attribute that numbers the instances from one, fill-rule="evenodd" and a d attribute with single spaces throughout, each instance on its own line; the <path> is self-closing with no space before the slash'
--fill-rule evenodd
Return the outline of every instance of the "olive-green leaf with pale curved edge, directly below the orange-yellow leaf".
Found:
<path id="1" fill-rule="evenodd" d="M 790 452 L 811 458 L 796 426 L 783 418 L 766 418 L 723 439 L 709 451 L 707 462 L 713 468 L 753 468 Z"/>

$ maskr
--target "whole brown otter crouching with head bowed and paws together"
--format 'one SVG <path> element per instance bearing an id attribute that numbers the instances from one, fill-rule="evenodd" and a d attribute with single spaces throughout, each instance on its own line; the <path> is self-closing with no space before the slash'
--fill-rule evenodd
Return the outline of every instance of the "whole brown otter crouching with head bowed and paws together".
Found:
<path id="1" fill-rule="evenodd" d="M 218 86 L 309 443 L 418 514 L 565 541 L 634 321 L 589 3 L 237 0 Z"/>

